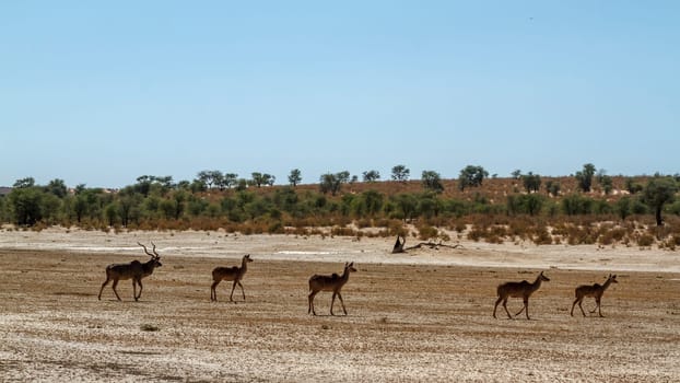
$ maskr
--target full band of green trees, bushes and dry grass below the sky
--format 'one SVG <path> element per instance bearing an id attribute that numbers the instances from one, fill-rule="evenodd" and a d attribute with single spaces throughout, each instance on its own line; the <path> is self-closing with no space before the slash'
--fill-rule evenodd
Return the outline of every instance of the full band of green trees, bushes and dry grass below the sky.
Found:
<path id="1" fill-rule="evenodd" d="M 338 172 L 302 184 L 298 170 L 291 171 L 286 185 L 274 181 L 266 173 L 239 178 L 202 171 L 191 182 L 178 183 L 172 176 L 142 175 L 112 192 L 84 184 L 69 188 L 59 178 L 36 185 L 26 177 L 0 196 L 0 221 L 33 230 L 223 229 L 244 234 L 680 245 L 678 174 L 609 176 L 588 163 L 570 176 L 518 170 L 511 177 L 490 177 L 482 166 L 468 165 L 458 178 L 423 171 L 414 181 L 408 167 L 397 165 L 389 181 L 366 171 L 361 179 Z"/>

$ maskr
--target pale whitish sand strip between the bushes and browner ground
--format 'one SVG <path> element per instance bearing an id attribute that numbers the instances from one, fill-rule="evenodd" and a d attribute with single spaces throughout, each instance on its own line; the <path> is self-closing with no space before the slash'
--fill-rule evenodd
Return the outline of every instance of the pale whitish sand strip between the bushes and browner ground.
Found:
<path id="1" fill-rule="evenodd" d="M 0 231 L 0 248 L 49 249 L 143 257 L 137 245 L 151 242 L 164 257 L 254 257 L 275 260 L 314 260 L 363 264 L 450 265 L 514 268 L 564 268 L 611 271 L 680 272 L 680 254 L 658 248 L 599 247 L 597 245 L 489 244 L 459 241 L 462 247 L 413 249 L 390 254 L 394 239 L 320 237 L 297 235 L 239 235 L 223 231 L 102 232 L 50 228 L 35 231 Z M 414 242 L 410 239 L 409 242 Z"/>

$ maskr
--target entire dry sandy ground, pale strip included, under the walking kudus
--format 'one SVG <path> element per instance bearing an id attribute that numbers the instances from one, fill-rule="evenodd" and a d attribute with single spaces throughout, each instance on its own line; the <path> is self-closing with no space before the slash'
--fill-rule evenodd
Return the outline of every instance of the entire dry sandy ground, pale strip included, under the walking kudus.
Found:
<path id="1" fill-rule="evenodd" d="M 110 285 L 97 301 L 106 265 L 144 260 L 138 241 L 163 262 L 141 300 L 121 281 L 122 302 Z M 0 381 L 680 381 L 678 253 L 461 244 L 390 255 L 391 239 L 0 230 Z M 210 302 L 212 268 L 245 253 L 246 301 L 222 282 Z M 349 315 L 328 315 L 327 292 L 308 315 L 309 276 L 345 260 Z M 551 281 L 532 320 L 493 318 L 495 287 L 539 270 Z M 610 271 L 606 317 L 570 316 L 574 288 Z"/>

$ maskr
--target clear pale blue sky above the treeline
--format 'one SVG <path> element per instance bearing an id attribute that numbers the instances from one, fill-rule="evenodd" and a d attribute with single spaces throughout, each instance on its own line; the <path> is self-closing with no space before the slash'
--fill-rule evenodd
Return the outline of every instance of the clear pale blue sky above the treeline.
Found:
<path id="1" fill-rule="evenodd" d="M 680 172 L 679 1 L 2 1 L 0 186 Z"/>

